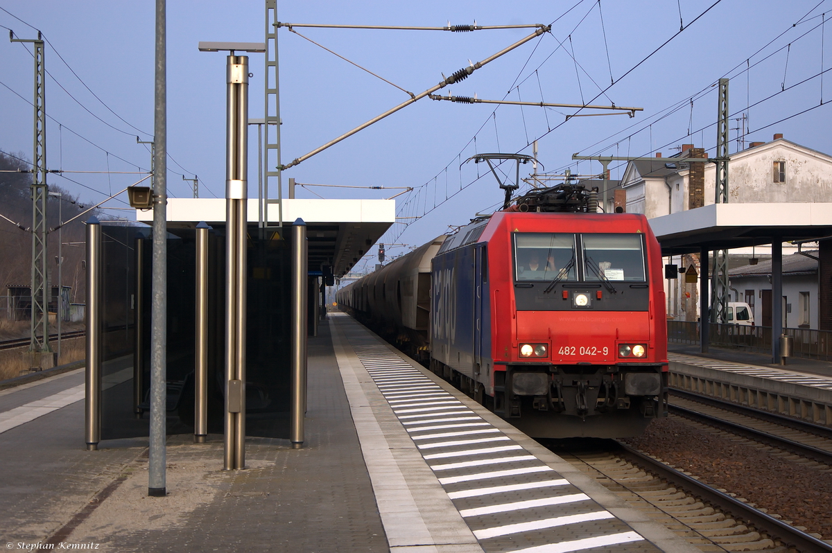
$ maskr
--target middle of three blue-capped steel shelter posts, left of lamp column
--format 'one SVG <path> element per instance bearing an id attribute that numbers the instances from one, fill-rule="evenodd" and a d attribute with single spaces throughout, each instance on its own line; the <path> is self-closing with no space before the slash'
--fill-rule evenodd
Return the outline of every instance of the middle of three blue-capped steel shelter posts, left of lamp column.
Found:
<path id="1" fill-rule="evenodd" d="M 208 436 L 208 230 L 196 225 L 196 363 L 194 367 L 194 442 Z"/>

